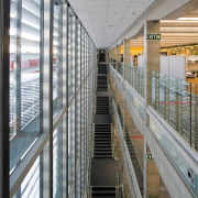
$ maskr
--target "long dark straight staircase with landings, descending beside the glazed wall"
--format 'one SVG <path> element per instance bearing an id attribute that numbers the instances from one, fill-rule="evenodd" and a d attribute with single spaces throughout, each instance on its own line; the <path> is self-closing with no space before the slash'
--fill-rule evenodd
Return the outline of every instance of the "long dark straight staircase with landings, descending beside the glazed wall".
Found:
<path id="1" fill-rule="evenodd" d="M 95 116 L 95 151 L 92 160 L 91 197 L 116 198 L 114 162 L 111 150 L 111 123 L 105 53 L 99 53 L 98 84 Z M 113 162 L 113 164 L 112 164 Z M 109 168 L 112 166 L 113 168 Z M 95 170 L 94 170 L 95 169 Z M 108 170 L 107 170 L 108 169 Z M 110 179 L 113 178 L 112 182 Z"/>

